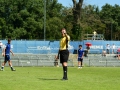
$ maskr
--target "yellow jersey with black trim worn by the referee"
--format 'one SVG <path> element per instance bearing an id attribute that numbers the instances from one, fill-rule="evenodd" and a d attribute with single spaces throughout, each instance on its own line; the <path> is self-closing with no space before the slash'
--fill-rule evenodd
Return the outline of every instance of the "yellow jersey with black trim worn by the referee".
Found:
<path id="1" fill-rule="evenodd" d="M 67 37 L 64 36 L 63 38 L 61 38 L 61 40 L 60 40 L 60 50 L 66 50 L 68 48 L 69 41 L 70 41 L 70 36 L 69 35 L 67 35 Z"/>

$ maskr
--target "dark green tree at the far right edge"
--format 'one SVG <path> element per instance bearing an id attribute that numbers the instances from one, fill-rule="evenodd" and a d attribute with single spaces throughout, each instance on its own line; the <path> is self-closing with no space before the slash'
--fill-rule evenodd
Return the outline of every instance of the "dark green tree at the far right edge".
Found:
<path id="1" fill-rule="evenodd" d="M 120 39 L 120 6 L 105 4 L 100 12 L 102 22 L 106 25 L 105 38 L 107 40 Z"/>

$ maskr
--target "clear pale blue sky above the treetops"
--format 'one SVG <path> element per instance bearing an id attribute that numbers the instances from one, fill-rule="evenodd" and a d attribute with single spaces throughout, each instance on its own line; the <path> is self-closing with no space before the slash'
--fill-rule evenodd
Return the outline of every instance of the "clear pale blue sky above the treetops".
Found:
<path id="1" fill-rule="evenodd" d="M 79 1 L 79 0 L 77 0 Z M 72 0 L 58 0 L 59 3 L 61 3 L 63 6 L 71 7 L 73 5 Z M 115 4 L 120 5 L 120 0 L 84 0 L 83 2 L 85 5 L 91 4 L 96 5 L 99 8 L 101 8 L 106 3 L 114 6 Z"/>

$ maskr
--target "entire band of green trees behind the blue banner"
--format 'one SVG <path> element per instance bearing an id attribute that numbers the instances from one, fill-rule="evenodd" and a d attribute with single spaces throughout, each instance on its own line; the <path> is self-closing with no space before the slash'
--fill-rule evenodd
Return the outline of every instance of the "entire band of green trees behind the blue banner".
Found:
<path id="1" fill-rule="evenodd" d="M 46 0 L 46 40 L 58 40 L 61 28 L 67 29 L 71 40 L 83 40 L 84 34 L 92 34 L 94 30 L 104 34 L 106 40 L 120 39 L 119 5 L 105 4 L 101 10 L 95 5 L 85 5 L 80 14 L 77 23 L 73 7 Z M 44 39 L 44 0 L 0 0 L 0 39 L 7 37 Z"/>

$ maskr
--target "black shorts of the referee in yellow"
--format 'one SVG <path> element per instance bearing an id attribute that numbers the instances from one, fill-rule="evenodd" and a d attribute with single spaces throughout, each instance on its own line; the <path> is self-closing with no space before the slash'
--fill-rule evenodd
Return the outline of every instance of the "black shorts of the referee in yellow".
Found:
<path id="1" fill-rule="evenodd" d="M 68 50 L 61 50 L 60 51 L 60 63 L 67 62 L 69 57 Z"/>

